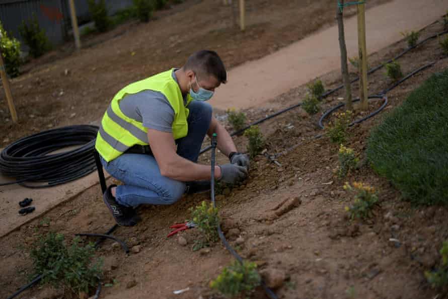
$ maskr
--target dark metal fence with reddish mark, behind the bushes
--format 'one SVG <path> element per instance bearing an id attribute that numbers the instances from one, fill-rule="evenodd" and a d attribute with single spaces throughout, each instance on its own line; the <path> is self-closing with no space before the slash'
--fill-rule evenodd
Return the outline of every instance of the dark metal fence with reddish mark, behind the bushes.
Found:
<path id="1" fill-rule="evenodd" d="M 19 26 L 35 15 L 53 45 L 62 44 L 71 30 L 69 0 L 0 0 L 0 21 L 5 30 L 22 41 Z M 90 20 L 87 0 L 75 0 L 79 20 Z M 109 15 L 132 5 L 132 0 L 106 0 Z M 22 42 L 23 45 L 23 42 Z M 23 50 L 27 50 L 22 46 Z"/>

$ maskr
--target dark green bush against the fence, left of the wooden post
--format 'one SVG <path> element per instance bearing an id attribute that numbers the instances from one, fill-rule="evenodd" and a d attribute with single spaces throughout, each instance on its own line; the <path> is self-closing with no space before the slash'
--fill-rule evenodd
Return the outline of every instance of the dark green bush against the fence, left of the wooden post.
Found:
<path id="1" fill-rule="evenodd" d="M 30 47 L 30 55 L 34 58 L 42 56 L 51 48 L 45 31 L 40 28 L 35 14 L 32 19 L 28 20 L 28 23 L 22 22 L 22 25 L 19 26 L 19 33 L 25 44 Z"/>

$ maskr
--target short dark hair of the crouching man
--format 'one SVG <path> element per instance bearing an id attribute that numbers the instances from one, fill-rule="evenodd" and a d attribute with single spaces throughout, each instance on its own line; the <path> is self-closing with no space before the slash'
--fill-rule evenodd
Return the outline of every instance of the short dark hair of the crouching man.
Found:
<path id="1" fill-rule="evenodd" d="M 201 50 L 191 54 L 184 69 L 193 70 L 199 78 L 213 76 L 220 83 L 227 82 L 227 71 L 221 58 L 215 51 Z"/>

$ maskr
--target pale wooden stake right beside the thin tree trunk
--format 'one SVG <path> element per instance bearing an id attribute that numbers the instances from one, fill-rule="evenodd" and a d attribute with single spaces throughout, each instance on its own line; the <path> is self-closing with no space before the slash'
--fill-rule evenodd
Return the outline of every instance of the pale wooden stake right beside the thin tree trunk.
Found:
<path id="1" fill-rule="evenodd" d="M 367 110 L 367 46 L 365 44 L 365 4 L 358 4 L 359 98 L 361 109 Z"/>

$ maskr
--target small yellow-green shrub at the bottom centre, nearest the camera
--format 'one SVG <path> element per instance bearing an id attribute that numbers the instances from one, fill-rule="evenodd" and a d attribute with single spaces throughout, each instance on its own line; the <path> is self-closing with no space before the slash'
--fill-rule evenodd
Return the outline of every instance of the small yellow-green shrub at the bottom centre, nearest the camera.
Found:
<path id="1" fill-rule="evenodd" d="M 226 297 L 246 294 L 260 285 L 261 278 L 257 272 L 257 264 L 244 261 L 240 264 L 234 261 L 222 269 L 215 280 L 210 281 L 210 287 L 218 290 Z"/>

